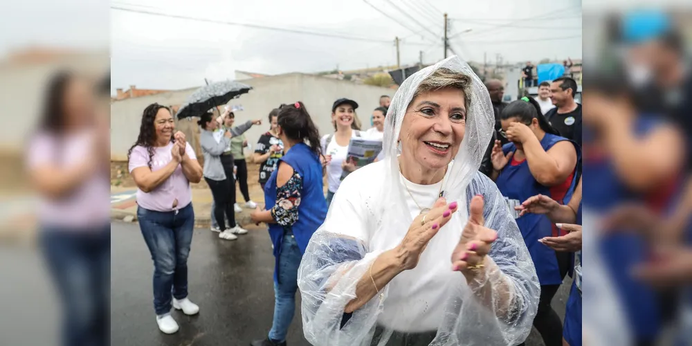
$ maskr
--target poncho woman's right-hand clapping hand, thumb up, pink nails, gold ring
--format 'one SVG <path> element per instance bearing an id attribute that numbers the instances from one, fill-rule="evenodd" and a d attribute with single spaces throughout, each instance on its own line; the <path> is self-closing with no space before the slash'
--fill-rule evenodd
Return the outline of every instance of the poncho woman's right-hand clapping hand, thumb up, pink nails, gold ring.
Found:
<path id="1" fill-rule="evenodd" d="M 468 221 L 462 231 L 457 248 L 452 253 L 452 270 L 461 271 L 471 280 L 477 270 L 484 267 L 485 257 L 490 247 L 498 239 L 498 233 L 484 226 L 483 197 L 476 195 L 471 199 Z"/>

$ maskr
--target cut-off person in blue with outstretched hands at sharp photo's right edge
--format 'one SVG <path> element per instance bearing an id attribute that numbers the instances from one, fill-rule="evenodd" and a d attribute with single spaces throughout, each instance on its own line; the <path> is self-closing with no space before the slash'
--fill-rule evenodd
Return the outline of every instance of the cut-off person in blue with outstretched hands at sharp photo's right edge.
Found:
<path id="1" fill-rule="evenodd" d="M 538 241 L 555 251 L 576 253 L 574 281 L 565 308 L 563 345 L 581 346 L 581 179 L 574 189 L 572 199 L 566 205 L 561 205 L 543 194 L 537 194 L 524 201 L 521 206 L 516 206 L 515 210 L 520 212 L 520 216 L 527 213 L 545 215 L 556 223 L 558 228 L 569 232 L 561 237 L 544 237 Z"/>

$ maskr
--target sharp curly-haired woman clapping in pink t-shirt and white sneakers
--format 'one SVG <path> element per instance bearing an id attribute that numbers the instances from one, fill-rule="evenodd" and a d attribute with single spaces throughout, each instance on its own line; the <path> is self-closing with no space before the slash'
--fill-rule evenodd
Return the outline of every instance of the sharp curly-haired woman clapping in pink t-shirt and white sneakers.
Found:
<path id="1" fill-rule="evenodd" d="M 179 328 L 170 315 L 171 303 L 186 315 L 199 312 L 188 299 L 188 255 L 194 228 L 190 182 L 199 183 L 202 167 L 185 135 L 174 130 L 170 110 L 150 104 L 128 153 L 129 172 L 138 188 L 139 228 L 154 260 L 156 322 L 165 334 Z"/>

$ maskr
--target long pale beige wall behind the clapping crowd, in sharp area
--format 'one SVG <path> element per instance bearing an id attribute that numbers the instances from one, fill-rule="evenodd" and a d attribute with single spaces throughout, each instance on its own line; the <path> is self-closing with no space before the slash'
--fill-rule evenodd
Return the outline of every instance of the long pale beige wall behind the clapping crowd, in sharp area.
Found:
<path id="1" fill-rule="evenodd" d="M 302 73 L 253 78 L 243 82 L 253 86 L 253 90 L 240 98 L 231 100 L 228 104 L 243 106 L 244 111 L 236 112 L 237 122 L 262 119 L 262 125 L 252 127 L 245 134 L 253 149 L 260 136 L 269 129 L 267 118 L 269 112 L 282 103 L 302 101 L 311 114 L 313 122 L 320 129 L 320 134 L 329 134 L 334 131 L 331 125 L 331 105 L 338 98 L 350 98 L 358 102 L 359 107 L 356 113 L 363 123 L 363 129 L 368 129 L 370 115 L 372 110 L 379 107 L 380 96 L 394 95 L 392 89 Z M 127 150 L 138 136 L 142 111 L 147 105 L 153 102 L 165 105 L 182 104 L 194 90 L 194 88 L 186 89 L 113 102 L 111 104 L 111 159 L 127 158 Z M 188 138 L 199 136 L 196 120 L 179 120 L 177 127 L 185 132 Z M 194 140 L 190 141 L 192 142 Z M 198 155 L 201 154 L 199 142 L 193 145 Z M 251 153 L 247 152 L 246 155 L 249 156 Z"/>

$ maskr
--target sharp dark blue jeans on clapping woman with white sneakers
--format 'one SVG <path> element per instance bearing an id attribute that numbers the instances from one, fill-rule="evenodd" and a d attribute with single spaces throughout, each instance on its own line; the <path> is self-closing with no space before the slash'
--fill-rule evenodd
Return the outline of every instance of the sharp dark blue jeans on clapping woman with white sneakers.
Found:
<path id="1" fill-rule="evenodd" d="M 188 296 L 188 255 L 194 228 L 192 203 L 173 212 L 139 207 L 137 219 L 154 260 L 154 310 L 158 316 L 165 315 L 171 310 L 171 295 L 176 299 Z"/>

